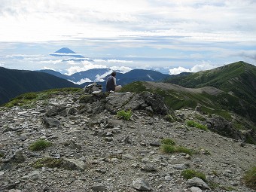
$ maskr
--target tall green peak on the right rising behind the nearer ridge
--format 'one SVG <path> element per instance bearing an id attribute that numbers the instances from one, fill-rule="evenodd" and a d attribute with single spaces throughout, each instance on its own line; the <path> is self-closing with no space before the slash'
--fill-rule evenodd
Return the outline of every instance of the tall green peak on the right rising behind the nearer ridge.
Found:
<path id="1" fill-rule="evenodd" d="M 234 62 L 227 66 L 184 76 L 173 76 L 168 83 L 183 87 L 200 88 L 215 87 L 235 96 L 233 102 L 227 104 L 227 99 L 220 102 L 231 111 L 241 114 L 256 122 L 256 67 L 246 62 Z M 225 104 L 226 103 L 226 104 Z"/>

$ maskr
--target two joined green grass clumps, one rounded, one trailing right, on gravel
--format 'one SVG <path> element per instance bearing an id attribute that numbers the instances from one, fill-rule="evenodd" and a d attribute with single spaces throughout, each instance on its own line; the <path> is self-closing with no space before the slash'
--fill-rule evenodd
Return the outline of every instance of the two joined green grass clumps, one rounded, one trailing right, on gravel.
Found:
<path id="1" fill-rule="evenodd" d="M 162 139 L 162 145 L 160 146 L 161 151 L 166 154 L 172 153 L 185 153 L 185 154 L 193 154 L 194 150 L 189 148 L 185 148 L 182 146 L 175 146 L 175 142 L 172 139 Z"/>

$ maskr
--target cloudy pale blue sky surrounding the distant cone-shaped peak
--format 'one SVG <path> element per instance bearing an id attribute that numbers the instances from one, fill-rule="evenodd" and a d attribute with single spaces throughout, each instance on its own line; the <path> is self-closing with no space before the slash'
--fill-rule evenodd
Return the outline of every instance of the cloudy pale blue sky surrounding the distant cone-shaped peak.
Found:
<path id="1" fill-rule="evenodd" d="M 0 0 L 0 66 L 170 75 L 256 66 L 256 0 Z M 62 61 L 62 47 L 91 60 Z"/>

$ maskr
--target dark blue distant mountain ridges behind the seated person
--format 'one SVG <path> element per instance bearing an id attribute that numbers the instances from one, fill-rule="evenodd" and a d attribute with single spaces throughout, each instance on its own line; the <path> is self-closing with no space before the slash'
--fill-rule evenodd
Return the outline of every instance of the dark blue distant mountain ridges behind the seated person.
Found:
<path id="1" fill-rule="evenodd" d="M 69 76 L 53 70 L 32 72 L 0 67 L 0 105 L 22 93 L 62 87 L 84 87 L 91 82 L 99 82 L 105 91 L 104 81 L 111 72 L 111 69 L 90 69 Z M 168 77 L 170 76 L 160 72 L 136 69 L 126 74 L 117 72 L 117 84 L 124 85 L 133 81 L 163 81 Z M 78 81 L 85 83 L 80 85 L 73 83 Z"/>

